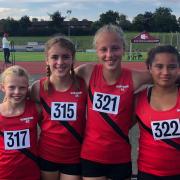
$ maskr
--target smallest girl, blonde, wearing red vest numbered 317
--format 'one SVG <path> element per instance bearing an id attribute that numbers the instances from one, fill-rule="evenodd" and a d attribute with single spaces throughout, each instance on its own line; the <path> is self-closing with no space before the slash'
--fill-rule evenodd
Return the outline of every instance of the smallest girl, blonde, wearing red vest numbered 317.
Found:
<path id="1" fill-rule="evenodd" d="M 1 74 L 0 179 L 39 180 L 37 122 L 39 110 L 27 99 L 29 78 L 20 66 Z"/>

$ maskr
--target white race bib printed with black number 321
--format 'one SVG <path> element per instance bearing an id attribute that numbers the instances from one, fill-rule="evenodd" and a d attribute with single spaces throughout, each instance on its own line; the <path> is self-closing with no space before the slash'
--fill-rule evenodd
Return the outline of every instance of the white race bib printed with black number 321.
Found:
<path id="1" fill-rule="evenodd" d="M 119 102 L 120 96 L 95 92 L 93 98 L 93 110 L 108 114 L 117 114 Z"/>

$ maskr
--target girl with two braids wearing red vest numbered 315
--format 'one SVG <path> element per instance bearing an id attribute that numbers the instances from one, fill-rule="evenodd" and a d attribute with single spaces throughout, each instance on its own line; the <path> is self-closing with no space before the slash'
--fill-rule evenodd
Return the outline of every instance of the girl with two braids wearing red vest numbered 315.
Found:
<path id="1" fill-rule="evenodd" d="M 80 150 L 85 126 L 86 89 L 74 74 L 75 46 L 65 37 L 45 46 L 47 77 L 32 86 L 41 102 L 43 120 L 39 142 L 43 180 L 79 180 Z"/>

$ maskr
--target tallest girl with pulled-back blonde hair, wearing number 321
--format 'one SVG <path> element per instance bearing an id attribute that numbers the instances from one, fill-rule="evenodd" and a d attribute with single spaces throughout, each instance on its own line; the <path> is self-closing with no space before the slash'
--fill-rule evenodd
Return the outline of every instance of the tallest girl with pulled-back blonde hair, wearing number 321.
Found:
<path id="1" fill-rule="evenodd" d="M 105 25 L 94 37 L 99 64 L 79 66 L 76 72 L 89 86 L 88 120 L 82 146 L 85 180 L 131 177 L 133 92 L 150 80 L 147 72 L 121 67 L 125 51 L 120 27 Z"/>

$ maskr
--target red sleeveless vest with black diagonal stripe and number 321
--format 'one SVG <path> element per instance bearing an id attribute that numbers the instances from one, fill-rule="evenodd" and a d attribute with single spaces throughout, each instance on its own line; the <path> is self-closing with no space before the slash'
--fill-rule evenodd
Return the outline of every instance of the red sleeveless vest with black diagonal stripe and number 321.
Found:
<path id="1" fill-rule="evenodd" d="M 107 85 L 102 65 L 96 65 L 93 70 L 88 96 L 87 127 L 81 153 L 84 159 L 107 164 L 131 161 L 128 133 L 132 117 L 133 81 L 130 70 L 121 71 L 117 82 Z M 114 130 L 109 125 L 109 120 L 119 130 Z"/>

